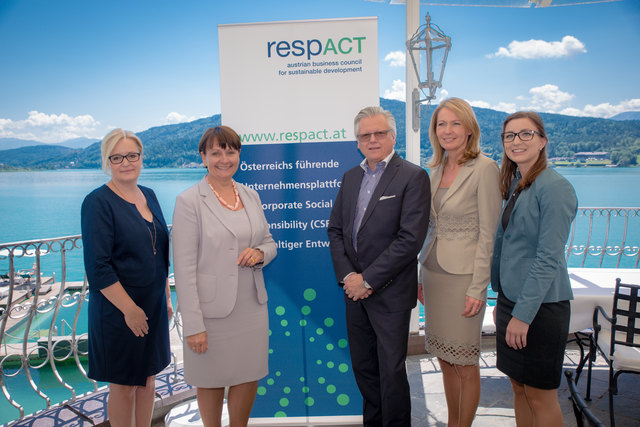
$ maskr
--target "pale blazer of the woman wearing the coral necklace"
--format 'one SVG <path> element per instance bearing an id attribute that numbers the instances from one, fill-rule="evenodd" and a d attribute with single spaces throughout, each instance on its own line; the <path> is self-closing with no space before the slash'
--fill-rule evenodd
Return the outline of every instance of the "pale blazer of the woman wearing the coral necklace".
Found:
<path id="1" fill-rule="evenodd" d="M 264 252 L 264 264 L 253 268 L 256 295 L 267 302 L 260 267 L 276 256 L 276 244 L 255 190 L 237 184 L 251 224 L 250 246 Z M 184 335 L 203 332 L 204 318 L 228 316 L 238 295 L 236 260 L 244 249 L 225 223 L 224 209 L 205 178 L 181 193 L 173 212 L 172 246 L 178 310 Z"/>

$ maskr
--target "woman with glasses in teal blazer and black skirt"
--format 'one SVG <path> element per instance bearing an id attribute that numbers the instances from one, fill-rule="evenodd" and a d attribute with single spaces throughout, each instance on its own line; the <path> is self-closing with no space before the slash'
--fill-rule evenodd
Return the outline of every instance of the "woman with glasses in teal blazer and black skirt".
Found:
<path id="1" fill-rule="evenodd" d="M 547 167 L 540 116 L 520 111 L 502 125 L 502 198 L 491 287 L 497 368 L 511 380 L 518 426 L 561 426 L 558 403 L 573 298 L 565 243 L 578 201 L 571 184 Z"/>

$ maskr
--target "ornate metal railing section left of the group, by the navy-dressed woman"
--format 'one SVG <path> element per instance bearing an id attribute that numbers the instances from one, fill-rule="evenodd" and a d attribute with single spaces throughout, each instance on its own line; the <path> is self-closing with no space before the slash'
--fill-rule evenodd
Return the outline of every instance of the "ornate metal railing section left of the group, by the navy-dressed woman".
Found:
<path id="1" fill-rule="evenodd" d="M 32 399 L 44 401 L 44 408 L 40 409 L 75 401 L 80 397 L 76 390 L 78 379 L 89 388 L 89 392 L 98 390 L 99 384 L 87 376 L 83 365 L 88 356 L 87 333 L 78 333 L 86 330 L 86 325 L 79 328 L 78 322 L 83 305 L 89 301 L 87 280 L 86 277 L 76 282 L 67 280 L 69 258 L 75 258 L 76 264 L 81 263 L 81 244 L 81 235 L 0 244 L 0 390 L 3 395 L 0 399 L 16 409 L 13 421 L 8 424 L 25 417 L 26 402 L 17 401 L 17 390 L 12 390 L 8 384 L 13 378 L 24 377 L 33 391 Z M 57 258 L 58 281 L 55 274 L 46 276 L 43 273 L 44 256 Z M 31 269 L 17 268 L 16 264 L 25 264 L 27 258 L 35 259 Z M 72 307 L 75 307 L 73 320 L 58 320 L 61 310 L 64 309 L 69 316 Z M 174 314 L 171 328 L 177 327 L 178 318 Z M 48 328 L 37 324 L 42 322 L 46 322 Z M 178 336 L 182 339 L 181 333 Z M 173 352 L 171 360 L 174 368 L 171 379 L 177 382 L 180 378 Z M 74 368 L 71 374 L 70 362 Z M 65 375 L 60 372 L 61 364 L 64 364 Z M 69 399 L 52 401 L 47 390 L 38 383 L 36 378 L 49 369 L 59 386 L 70 393 Z M 76 387 L 65 376 L 73 376 Z M 24 387 L 21 388 L 20 395 L 24 396 Z M 0 424 L 3 422 L 6 421 L 0 419 Z"/>

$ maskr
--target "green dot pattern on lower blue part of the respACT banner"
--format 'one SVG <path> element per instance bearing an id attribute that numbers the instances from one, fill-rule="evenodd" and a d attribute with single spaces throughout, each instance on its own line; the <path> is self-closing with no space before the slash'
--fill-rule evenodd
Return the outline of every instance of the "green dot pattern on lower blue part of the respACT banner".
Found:
<path id="1" fill-rule="evenodd" d="M 316 290 L 312 288 L 304 289 L 302 296 L 307 304 L 302 305 L 299 309 L 287 304 L 275 307 L 274 314 L 276 319 L 272 320 L 279 323 L 279 326 L 273 329 L 270 328 L 269 336 L 308 339 L 307 342 L 312 343 L 307 344 L 309 346 L 308 354 L 315 356 L 315 359 L 310 358 L 308 360 L 307 363 L 312 365 L 310 375 L 307 377 L 300 376 L 299 386 L 296 385 L 295 381 L 290 383 L 291 379 L 283 373 L 286 372 L 283 366 L 277 366 L 281 369 L 272 371 L 271 377 L 265 378 L 265 383 L 262 383 L 264 385 L 258 387 L 258 396 L 268 395 L 278 402 L 280 408 L 273 414 L 274 417 L 287 417 L 288 415 L 285 411 L 297 411 L 298 409 L 293 408 L 298 408 L 300 403 L 307 408 L 315 406 L 316 401 L 325 402 L 326 399 L 329 399 L 328 402 L 335 402 L 333 405 L 336 405 L 336 407 L 345 407 L 351 403 L 349 394 L 345 393 L 344 390 L 339 390 L 340 386 L 336 385 L 332 378 L 333 375 L 337 374 L 334 368 L 337 368 L 341 374 L 348 373 L 351 370 L 349 355 L 345 354 L 344 351 L 336 351 L 338 349 L 347 349 L 349 343 L 346 337 L 335 337 L 333 332 L 336 331 L 329 329 L 336 325 L 334 317 L 326 315 L 322 317 L 316 316 L 317 319 L 306 317 L 311 314 L 313 303 L 316 302 Z M 316 311 L 315 314 L 318 315 L 320 313 Z M 293 326 L 293 328 L 290 328 L 290 326 Z M 277 349 L 275 346 L 269 348 L 269 354 L 275 354 Z M 283 363 L 286 365 L 287 362 Z M 273 366 L 273 368 L 275 367 Z M 316 387 L 310 387 L 312 384 L 316 384 Z M 338 391 L 342 391 L 342 393 L 338 393 Z"/>

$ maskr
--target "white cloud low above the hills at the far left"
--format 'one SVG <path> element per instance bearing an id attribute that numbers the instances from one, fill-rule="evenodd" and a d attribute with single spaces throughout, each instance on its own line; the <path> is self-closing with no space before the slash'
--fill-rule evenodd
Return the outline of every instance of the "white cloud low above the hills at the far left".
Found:
<path id="1" fill-rule="evenodd" d="M 68 139 L 95 138 L 100 122 L 89 114 L 69 116 L 68 114 L 46 114 L 29 111 L 23 120 L 0 118 L 0 138 L 32 139 L 56 143 Z"/>

